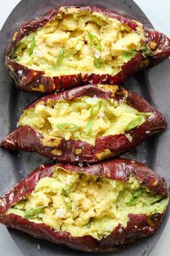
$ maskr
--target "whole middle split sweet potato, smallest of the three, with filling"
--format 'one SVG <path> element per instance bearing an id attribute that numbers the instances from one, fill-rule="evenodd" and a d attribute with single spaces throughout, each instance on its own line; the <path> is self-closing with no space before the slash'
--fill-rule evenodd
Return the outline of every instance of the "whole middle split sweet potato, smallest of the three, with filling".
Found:
<path id="1" fill-rule="evenodd" d="M 1 147 L 61 162 L 95 163 L 133 150 L 166 127 L 140 95 L 118 85 L 86 85 L 45 95 L 27 107 Z"/>

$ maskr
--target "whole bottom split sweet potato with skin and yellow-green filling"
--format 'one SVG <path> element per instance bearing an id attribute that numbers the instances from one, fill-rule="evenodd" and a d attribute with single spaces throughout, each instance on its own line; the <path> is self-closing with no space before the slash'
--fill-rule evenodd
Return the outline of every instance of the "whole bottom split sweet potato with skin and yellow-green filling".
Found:
<path id="1" fill-rule="evenodd" d="M 164 179 L 143 163 L 58 163 L 0 197 L 0 222 L 73 249 L 112 251 L 153 234 L 168 202 Z"/>

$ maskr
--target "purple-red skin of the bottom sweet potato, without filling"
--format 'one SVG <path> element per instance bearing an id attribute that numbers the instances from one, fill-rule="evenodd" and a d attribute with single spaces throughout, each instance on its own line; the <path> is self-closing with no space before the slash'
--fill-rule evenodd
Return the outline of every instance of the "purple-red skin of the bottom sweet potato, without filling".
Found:
<path id="1" fill-rule="evenodd" d="M 143 163 L 125 158 L 117 158 L 94 166 L 81 167 L 65 165 L 63 163 L 58 163 L 54 166 L 42 165 L 19 182 L 16 187 L 6 192 L 3 197 L 0 197 L 1 223 L 13 229 L 27 232 L 40 239 L 48 239 L 50 242 L 64 244 L 73 249 L 92 252 L 113 251 L 122 247 L 124 244 L 135 241 L 135 239 L 153 234 L 158 228 L 164 213 L 156 213 L 152 216 L 146 216 L 146 214 L 129 214 L 129 221 L 126 228 L 123 228 L 121 224 L 119 224 L 109 236 L 97 241 L 92 236 L 73 237 L 66 231 L 55 231 L 55 229 L 50 229 L 50 227 L 46 226 L 44 223 L 33 223 L 13 213 L 6 215 L 6 211 L 9 210 L 14 203 L 24 200 L 24 198 L 35 189 L 40 179 L 46 176 L 53 176 L 56 166 L 61 166 L 71 172 L 91 174 L 125 182 L 128 181 L 130 174 L 133 174 L 139 182 L 153 191 L 155 195 L 168 196 L 164 179 L 151 171 L 151 169 Z"/>

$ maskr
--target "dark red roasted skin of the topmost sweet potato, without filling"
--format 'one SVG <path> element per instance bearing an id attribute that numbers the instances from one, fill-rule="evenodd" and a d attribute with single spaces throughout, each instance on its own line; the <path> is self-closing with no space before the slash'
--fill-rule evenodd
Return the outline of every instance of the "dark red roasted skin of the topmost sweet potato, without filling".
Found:
<path id="1" fill-rule="evenodd" d="M 69 7 L 64 7 L 68 9 Z M 109 11 L 108 9 L 102 9 L 99 7 L 76 7 L 79 11 L 90 10 L 91 12 L 99 12 L 107 17 L 112 17 L 120 22 L 128 25 L 132 30 L 136 30 L 138 25 L 130 20 L 130 18 L 118 14 L 117 12 Z M 22 27 L 14 33 L 12 40 L 9 41 L 6 47 L 5 65 L 9 71 L 9 74 L 14 78 L 17 88 L 24 91 L 39 91 L 42 93 L 50 93 L 53 91 L 68 90 L 70 88 L 77 87 L 79 85 L 87 85 L 88 83 L 108 83 L 108 84 L 122 84 L 132 74 L 138 72 L 148 66 L 156 64 L 163 58 L 170 56 L 170 39 L 156 30 L 144 27 L 146 40 L 143 43 L 153 51 L 153 56 L 144 57 L 138 53 L 136 56 L 122 65 L 122 70 L 115 74 L 71 74 L 58 77 L 49 77 L 45 75 L 45 72 L 29 69 L 17 64 L 17 62 L 10 59 L 10 54 L 14 50 L 17 43 L 28 35 L 30 32 L 34 32 L 40 27 L 43 27 L 47 22 L 53 20 L 58 13 L 58 9 L 52 9 L 48 14 L 41 17 L 38 20 L 33 20 L 22 25 Z"/>

